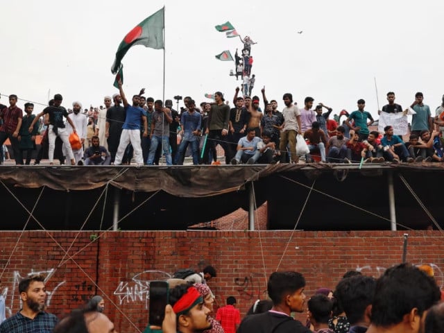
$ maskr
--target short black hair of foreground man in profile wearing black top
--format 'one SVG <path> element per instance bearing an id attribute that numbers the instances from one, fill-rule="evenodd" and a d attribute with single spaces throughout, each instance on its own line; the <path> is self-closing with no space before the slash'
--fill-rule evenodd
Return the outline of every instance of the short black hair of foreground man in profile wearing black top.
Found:
<path id="1" fill-rule="evenodd" d="M 289 293 L 295 293 L 305 287 L 305 278 L 295 271 L 273 272 L 268 279 L 266 289 L 274 305 L 284 301 Z"/>

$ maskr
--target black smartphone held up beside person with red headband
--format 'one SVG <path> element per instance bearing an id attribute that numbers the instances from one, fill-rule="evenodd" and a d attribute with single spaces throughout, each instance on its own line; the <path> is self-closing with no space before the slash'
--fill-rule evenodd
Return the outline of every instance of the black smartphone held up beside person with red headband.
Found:
<path id="1" fill-rule="evenodd" d="M 165 307 L 168 304 L 169 285 L 167 281 L 150 282 L 150 302 L 148 310 L 148 323 L 162 326 L 165 317 Z"/>

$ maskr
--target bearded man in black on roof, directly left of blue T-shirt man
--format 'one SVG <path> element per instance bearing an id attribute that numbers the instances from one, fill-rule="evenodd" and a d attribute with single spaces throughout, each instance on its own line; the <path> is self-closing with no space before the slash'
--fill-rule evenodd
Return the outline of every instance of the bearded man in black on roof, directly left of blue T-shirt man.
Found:
<path id="1" fill-rule="evenodd" d="M 122 98 L 119 94 L 112 95 L 112 100 L 114 101 L 114 106 L 106 110 L 105 137 L 107 137 L 111 164 L 114 164 L 122 133 L 122 125 L 125 122 L 125 109 L 120 105 Z"/>

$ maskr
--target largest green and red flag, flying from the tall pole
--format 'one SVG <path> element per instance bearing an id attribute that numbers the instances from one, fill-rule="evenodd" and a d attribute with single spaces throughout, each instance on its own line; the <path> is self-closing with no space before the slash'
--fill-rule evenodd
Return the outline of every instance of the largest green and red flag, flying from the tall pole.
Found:
<path id="1" fill-rule="evenodd" d="M 117 74 L 122 58 L 133 45 L 144 45 L 152 49 L 164 48 L 164 8 L 157 10 L 126 34 L 117 49 L 116 58 L 111 67 L 112 74 Z"/>

